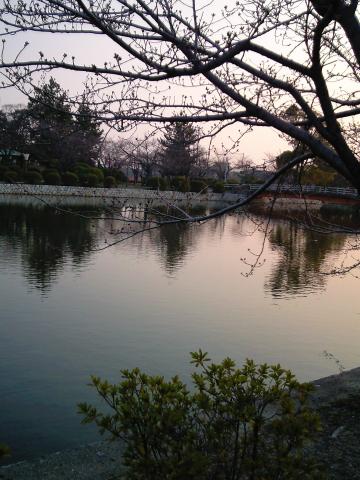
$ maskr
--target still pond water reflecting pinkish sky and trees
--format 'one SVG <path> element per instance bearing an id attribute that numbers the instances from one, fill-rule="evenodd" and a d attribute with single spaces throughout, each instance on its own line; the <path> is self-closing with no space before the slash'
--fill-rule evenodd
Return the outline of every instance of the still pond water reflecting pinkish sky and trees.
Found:
<path id="1" fill-rule="evenodd" d="M 280 362 L 301 380 L 337 371 L 324 350 L 359 366 L 360 279 L 323 273 L 349 237 L 273 220 L 264 241 L 255 227 L 234 215 L 96 251 L 114 238 L 110 220 L 2 199 L 0 441 L 12 461 L 99 438 L 76 414 L 96 400 L 90 374 L 138 366 L 188 380 L 199 347 Z"/>

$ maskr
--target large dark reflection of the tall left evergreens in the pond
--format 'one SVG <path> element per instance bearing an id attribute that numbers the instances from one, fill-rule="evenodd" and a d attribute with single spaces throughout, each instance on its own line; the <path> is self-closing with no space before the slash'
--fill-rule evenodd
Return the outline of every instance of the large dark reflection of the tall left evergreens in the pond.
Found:
<path id="1" fill-rule="evenodd" d="M 26 278 L 43 292 L 67 262 L 80 266 L 88 259 L 94 237 L 90 220 L 48 207 L 0 205 L 1 261 L 20 252 Z"/>

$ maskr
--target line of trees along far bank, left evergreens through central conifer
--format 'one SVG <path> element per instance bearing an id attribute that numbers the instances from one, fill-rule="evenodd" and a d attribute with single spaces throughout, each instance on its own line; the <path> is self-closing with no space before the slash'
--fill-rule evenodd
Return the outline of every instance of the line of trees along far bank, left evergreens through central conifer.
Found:
<path id="1" fill-rule="evenodd" d="M 150 188 L 223 191 L 227 158 L 210 159 L 190 122 L 172 122 L 161 138 L 107 138 L 85 100 L 74 108 L 50 78 L 26 106 L 0 111 L 0 180 L 114 187 L 131 179 Z M 210 178 L 209 178 L 210 177 Z"/>

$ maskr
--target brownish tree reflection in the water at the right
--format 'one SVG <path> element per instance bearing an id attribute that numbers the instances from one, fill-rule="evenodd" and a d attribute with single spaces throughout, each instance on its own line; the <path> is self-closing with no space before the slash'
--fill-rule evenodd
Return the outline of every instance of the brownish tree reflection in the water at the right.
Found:
<path id="1" fill-rule="evenodd" d="M 276 296 L 296 294 L 304 290 L 323 289 L 323 269 L 330 254 L 338 253 L 345 244 L 345 235 L 319 234 L 296 223 L 277 223 L 269 235 L 279 260 L 272 268 L 265 290 Z"/>

